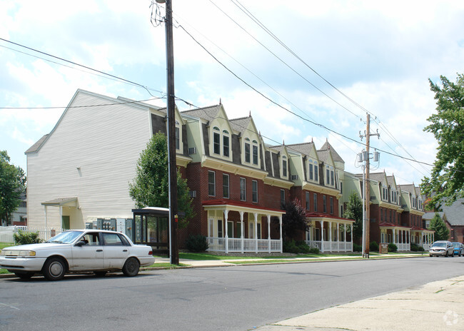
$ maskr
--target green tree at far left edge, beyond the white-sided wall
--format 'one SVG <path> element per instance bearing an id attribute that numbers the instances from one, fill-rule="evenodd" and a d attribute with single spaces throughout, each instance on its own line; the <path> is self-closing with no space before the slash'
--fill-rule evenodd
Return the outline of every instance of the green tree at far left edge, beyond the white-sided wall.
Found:
<path id="1" fill-rule="evenodd" d="M 11 213 L 21 203 L 21 193 L 26 190 L 26 175 L 20 167 L 9 163 L 6 151 L 0 151 L 0 219 L 10 222 Z"/>

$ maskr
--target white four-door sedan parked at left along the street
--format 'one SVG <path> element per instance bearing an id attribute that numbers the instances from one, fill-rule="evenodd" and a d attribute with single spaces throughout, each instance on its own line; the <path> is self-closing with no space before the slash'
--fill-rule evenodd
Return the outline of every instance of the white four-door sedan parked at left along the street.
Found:
<path id="1" fill-rule="evenodd" d="M 22 279 L 42 273 L 48 280 L 61 280 L 69 271 L 103 276 L 114 270 L 131 277 L 154 262 L 150 246 L 134 245 L 123 233 L 109 230 L 68 230 L 45 243 L 0 251 L 0 268 Z"/>

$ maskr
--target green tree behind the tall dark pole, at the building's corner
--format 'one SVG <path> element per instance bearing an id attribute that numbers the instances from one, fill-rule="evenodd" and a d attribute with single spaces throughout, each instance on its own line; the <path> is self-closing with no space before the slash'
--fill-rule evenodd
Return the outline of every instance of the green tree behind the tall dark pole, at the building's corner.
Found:
<path id="1" fill-rule="evenodd" d="M 129 183 L 129 194 L 136 201 L 137 208 L 169 207 L 168 188 L 168 151 L 167 138 L 163 133 L 156 133 L 148 141 L 146 149 L 137 161 L 136 178 Z M 192 199 L 187 180 L 177 171 L 177 203 L 178 210 L 185 213 L 179 227 L 185 227 L 193 218 Z"/>

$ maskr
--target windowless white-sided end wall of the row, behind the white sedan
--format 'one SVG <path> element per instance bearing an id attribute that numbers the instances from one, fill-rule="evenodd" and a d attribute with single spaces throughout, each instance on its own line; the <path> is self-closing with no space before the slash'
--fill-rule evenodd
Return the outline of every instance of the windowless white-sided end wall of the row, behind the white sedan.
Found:
<path id="1" fill-rule="evenodd" d="M 78 90 L 51 133 L 26 151 L 29 226 L 46 219 L 61 228 L 60 215 L 69 216 L 71 228 L 96 218 L 132 218 L 128 183 L 156 109 Z"/>

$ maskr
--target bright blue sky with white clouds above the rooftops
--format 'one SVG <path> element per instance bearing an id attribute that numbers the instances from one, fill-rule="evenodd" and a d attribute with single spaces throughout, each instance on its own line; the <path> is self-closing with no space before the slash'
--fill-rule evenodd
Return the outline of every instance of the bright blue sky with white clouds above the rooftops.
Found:
<path id="1" fill-rule="evenodd" d="M 221 101 L 228 118 L 251 114 L 269 145 L 328 140 L 352 173 L 361 172 L 369 113 L 370 133 L 380 134 L 370 138 L 380 152 L 370 171 L 397 184 L 430 175 L 429 79 L 463 73 L 464 1 L 172 6 L 179 110 Z M 26 170 L 24 152 L 78 88 L 166 106 L 164 15 L 151 0 L 0 1 L 0 150 L 11 163 Z"/>

